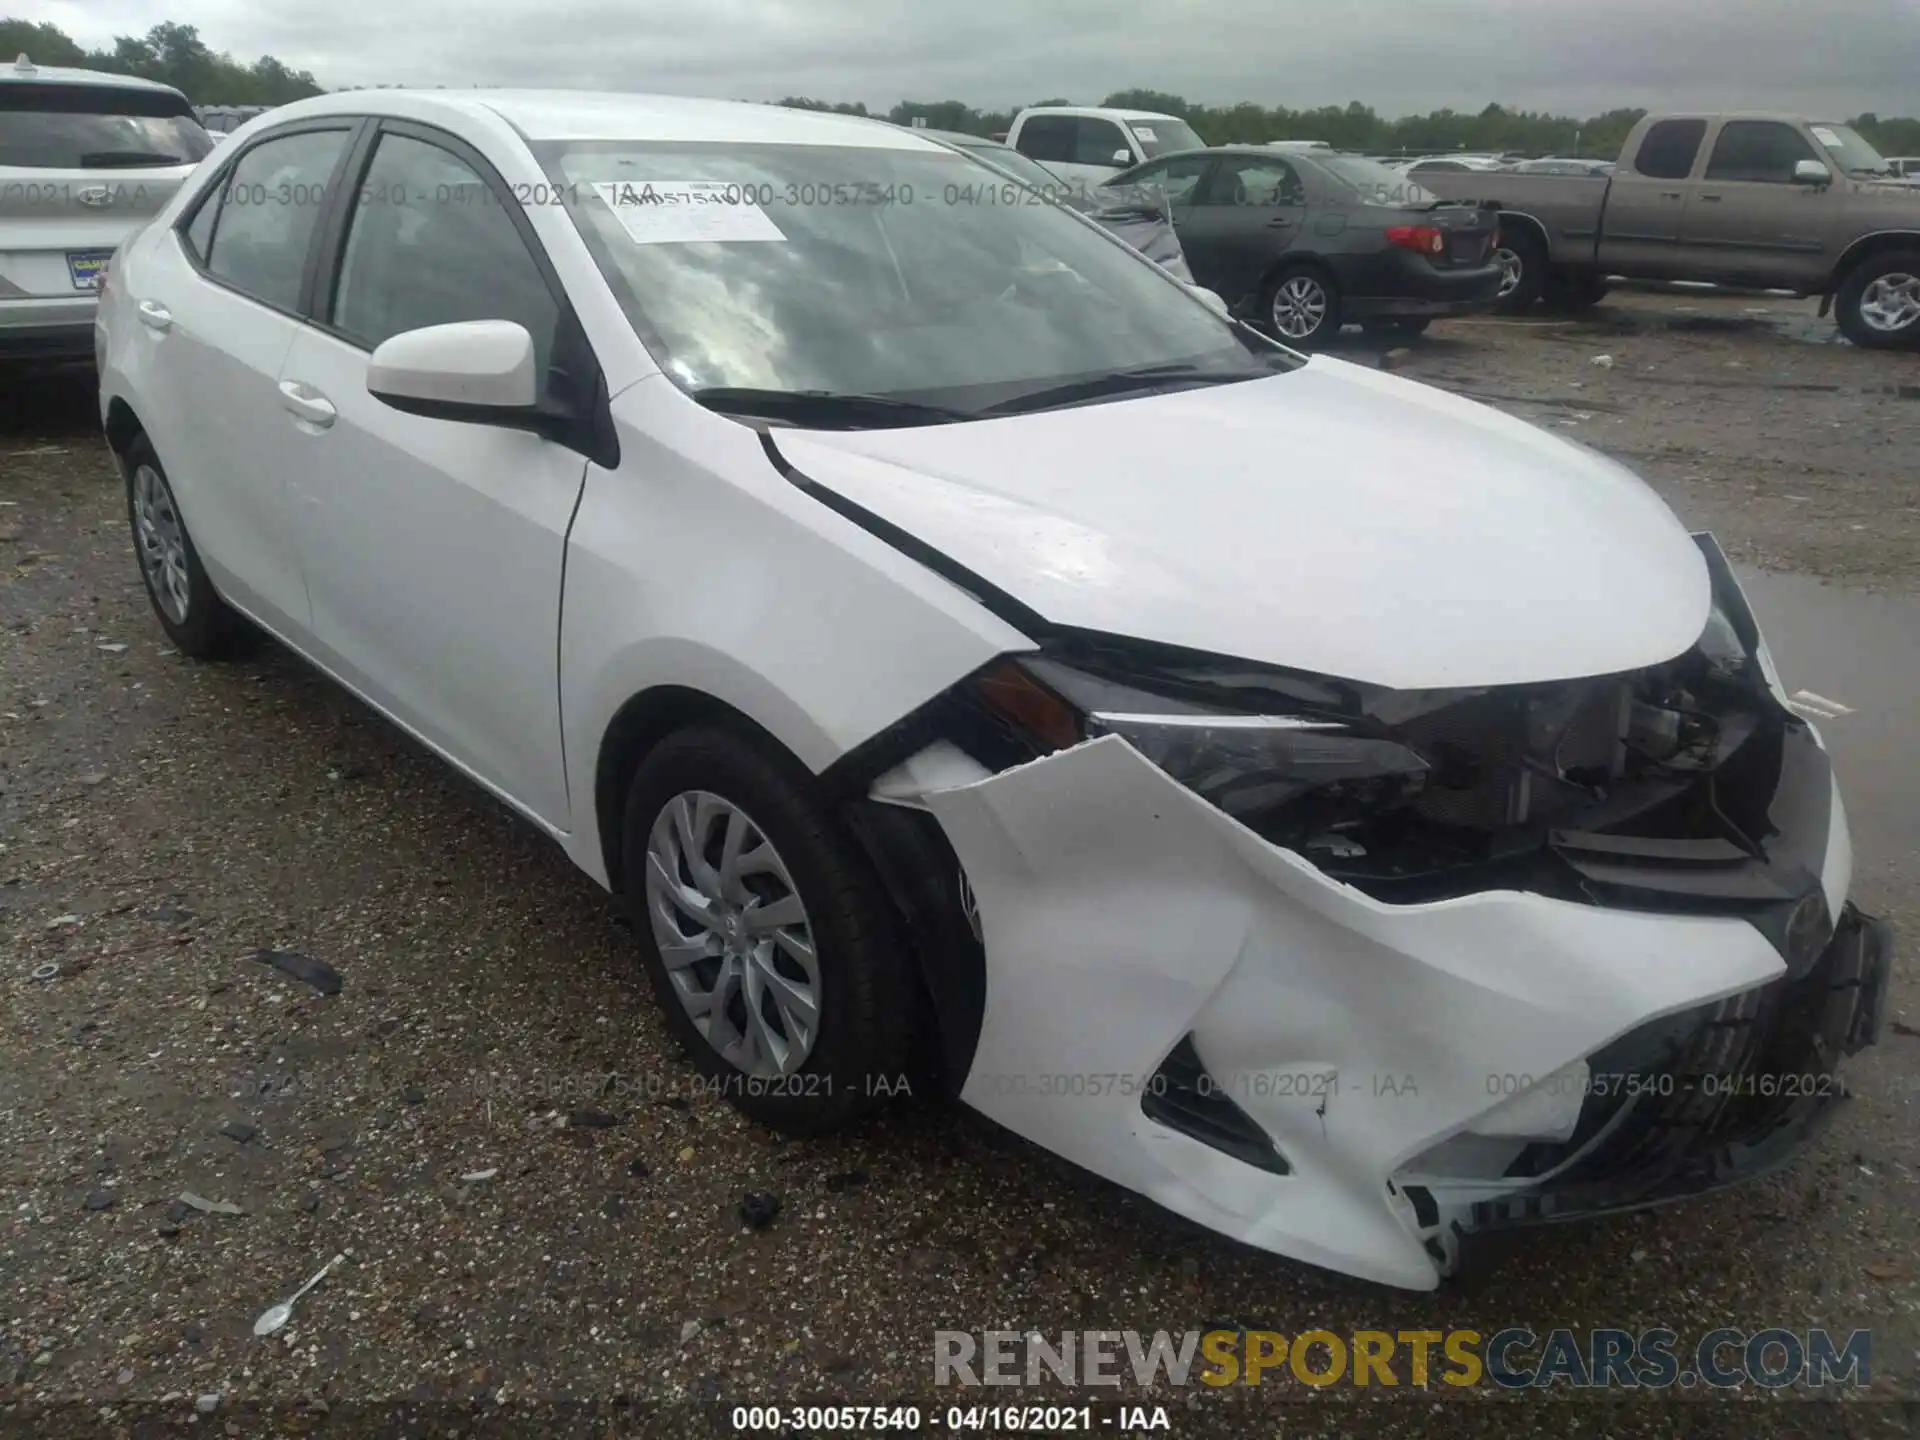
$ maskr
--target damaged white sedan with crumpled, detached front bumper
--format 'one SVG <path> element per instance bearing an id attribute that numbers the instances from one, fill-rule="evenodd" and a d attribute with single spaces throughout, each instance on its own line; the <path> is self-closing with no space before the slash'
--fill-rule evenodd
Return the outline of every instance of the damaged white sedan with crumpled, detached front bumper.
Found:
<path id="1" fill-rule="evenodd" d="M 943 1083 L 1402 1286 L 1801 1146 L 1889 941 L 1718 547 L 849 117 L 348 92 L 121 248 L 154 609 L 636 914 L 789 1129 Z"/>

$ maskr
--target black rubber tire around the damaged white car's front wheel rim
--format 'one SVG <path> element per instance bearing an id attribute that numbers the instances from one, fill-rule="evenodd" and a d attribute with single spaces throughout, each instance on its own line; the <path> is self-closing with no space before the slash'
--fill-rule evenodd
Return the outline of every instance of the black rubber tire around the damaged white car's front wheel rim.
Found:
<path id="1" fill-rule="evenodd" d="M 660 958 L 647 893 L 649 841 L 666 806 L 687 791 L 716 795 L 741 810 L 778 852 L 804 906 L 818 972 L 818 1020 L 812 1046 L 791 1073 L 756 1077 L 726 1058 L 693 1021 Z M 728 728 L 668 735 L 649 751 L 628 787 L 622 872 L 641 966 L 666 1023 L 705 1081 L 741 1114 L 787 1135 L 820 1135 L 908 1092 L 902 1077 L 914 1071 L 910 1058 L 922 1016 L 908 950 L 872 866 L 799 764 L 776 755 L 770 743 Z M 691 922 L 668 924 L 697 937 Z M 791 956 L 783 962 L 797 968 Z M 718 968 L 720 956 L 710 964 Z M 714 985 L 705 975 L 701 983 Z M 722 1006 L 739 1016 L 737 1027 L 745 1025 L 745 1004 L 739 991 Z M 785 1029 L 781 1037 L 793 1039 Z"/>

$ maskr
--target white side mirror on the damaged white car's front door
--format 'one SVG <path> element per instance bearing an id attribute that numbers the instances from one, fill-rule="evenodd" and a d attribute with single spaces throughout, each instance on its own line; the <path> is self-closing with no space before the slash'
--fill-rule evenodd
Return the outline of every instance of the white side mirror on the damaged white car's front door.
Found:
<path id="1" fill-rule="evenodd" d="M 401 330 L 367 363 L 367 392 L 436 420 L 543 430 L 534 338 L 513 321 L 461 321 Z"/>

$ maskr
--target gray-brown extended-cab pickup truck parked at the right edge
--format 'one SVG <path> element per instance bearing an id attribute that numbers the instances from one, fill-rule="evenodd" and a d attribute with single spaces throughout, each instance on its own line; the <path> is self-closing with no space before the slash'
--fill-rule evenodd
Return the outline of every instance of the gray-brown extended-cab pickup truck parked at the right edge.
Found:
<path id="1" fill-rule="evenodd" d="M 1607 276 L 1820 296 L 1872 349 L 1920 348 L 1920 186 L 1847 125 L 1647 115 L 1607 177 L 1421 175 L 1500 205 L 1501 309 L 1592 305 Z"/>

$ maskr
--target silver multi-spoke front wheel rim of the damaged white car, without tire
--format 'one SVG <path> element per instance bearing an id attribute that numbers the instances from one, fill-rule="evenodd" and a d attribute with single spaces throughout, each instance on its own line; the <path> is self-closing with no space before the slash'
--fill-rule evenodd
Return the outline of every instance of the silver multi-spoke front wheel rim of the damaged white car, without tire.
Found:
<path id="1" fill-rule="evenodd" d="M 682 791 L 647 837 L 647 920 L 674 995 L 714 1052 L 791 1075 L 820 1035 L 820 964 L 793 876 L 753 818 Z"/>

